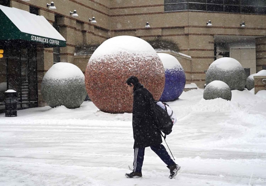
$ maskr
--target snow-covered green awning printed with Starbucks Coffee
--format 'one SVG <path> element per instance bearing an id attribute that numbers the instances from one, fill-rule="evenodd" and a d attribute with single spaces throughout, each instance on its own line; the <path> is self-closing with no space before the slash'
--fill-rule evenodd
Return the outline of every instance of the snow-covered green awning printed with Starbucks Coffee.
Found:
<path id="1" fill-rule="evenodd" d="M 66 39 L 43 17 L 0 5 L 0 40 L 27 40 L 65 47 Z"/>

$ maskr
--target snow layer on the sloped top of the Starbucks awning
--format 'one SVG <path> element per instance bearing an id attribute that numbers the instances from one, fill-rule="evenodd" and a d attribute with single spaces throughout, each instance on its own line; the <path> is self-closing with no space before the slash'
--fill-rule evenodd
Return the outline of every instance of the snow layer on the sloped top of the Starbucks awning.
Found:
<path id="1" fill-rule="evenodd" d="M 43 16 L 2 5 L 0 9 L 21 32 L 66 41 Z"/>

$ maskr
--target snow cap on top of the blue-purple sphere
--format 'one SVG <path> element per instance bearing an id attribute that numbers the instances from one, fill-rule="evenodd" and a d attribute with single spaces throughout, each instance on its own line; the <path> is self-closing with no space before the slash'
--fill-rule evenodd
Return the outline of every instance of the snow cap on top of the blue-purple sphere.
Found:
<path id="1" fill-rule="evenodd" d="M 158 53 L 158 56 L 163 62 L 165 69 L 182 68 L 180 62 L 178 62 L 178 60 L 174 56 L 165 53 Z"/>

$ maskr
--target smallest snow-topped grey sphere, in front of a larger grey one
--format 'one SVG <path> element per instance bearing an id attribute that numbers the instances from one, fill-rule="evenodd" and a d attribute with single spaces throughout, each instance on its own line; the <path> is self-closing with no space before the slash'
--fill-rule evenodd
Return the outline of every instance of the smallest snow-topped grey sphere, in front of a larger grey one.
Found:
<path id="1" fill-rule="evenodd" d="M 215 80 L 205 87 L 203 98 L 208 100 L 219 97 L 230 101 L 232 98 L 232 92 L 230 87 L 225 82 Z"/>

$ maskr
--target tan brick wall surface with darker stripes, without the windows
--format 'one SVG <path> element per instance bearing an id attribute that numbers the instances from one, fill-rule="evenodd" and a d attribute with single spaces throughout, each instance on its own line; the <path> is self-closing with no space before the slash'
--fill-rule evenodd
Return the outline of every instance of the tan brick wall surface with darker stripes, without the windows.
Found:
<path id="1" fill-rule="evenodd" d="M 180 52 L 192 57 L 191 69 L 187 71 L 186 76 L 199 88 L 203 88 L 204 71 L 214 61 L 214 37 L 222 35 L 257 37 L 256 70 L 260 71 L 266 64 L 266 15 L 202 11 L 164 12 L 164 0 L 57 0 L 55 10 L 48 9 L 48 1 L 43 0 L 10 2 L 12 7 L 26 11 L 29 11 L 30 5 L 39 8 L 40 15 L 51 24 L 55 21 L 55 14 L 62 16 L 59 22 L 60 33 L 67 43 L 65 48 L 61 48 L 62 62 L 76 62 L 73 56 L 76 45 L 103 42 L 118 35 L 138 36 L 145 40 L 161 35 L 177 42 Z M 79 17 L 70 16 L 69 11 L 74 9 Z M 89 18 L 93 16 L 97 24 L 89 22 Z M 206 26 L 208 20 L 211 20 L 212 27 Z M 239 26 L 242 21 L 245 21 L 246 28 Z M 146 22 L 150 23 L 150 29 L 144 28 Z M 52 53 L 44 51 L 43 56 L 46 69 L 53 62 Z M 81 63 L 77 64 L 84 71 L 84 64 Z"/>

